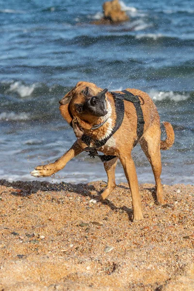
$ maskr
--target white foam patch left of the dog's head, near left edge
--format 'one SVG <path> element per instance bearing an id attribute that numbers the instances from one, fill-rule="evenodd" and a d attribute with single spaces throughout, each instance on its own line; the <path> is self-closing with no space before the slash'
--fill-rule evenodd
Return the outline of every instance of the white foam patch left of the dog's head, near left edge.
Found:
<path id="1" fill-rule="evenodd" d="M 28 86 L 16 81 L 10 84 L 9 89 L 7 89 L 5 93 L 16 92 L 20 97 L 29 97 L 36 87 L 36 83 Z"/>

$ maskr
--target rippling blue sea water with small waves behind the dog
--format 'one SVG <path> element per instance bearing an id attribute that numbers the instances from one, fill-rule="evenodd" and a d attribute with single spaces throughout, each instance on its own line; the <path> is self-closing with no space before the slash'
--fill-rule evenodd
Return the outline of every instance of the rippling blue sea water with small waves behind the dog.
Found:
<path id="1" fill-rule="evenodd" d="M 162 182 L 194 183 L 194 2 L 121 1 L 130 21 L 91 24 L 103 0 L 0 1 L 0 178 L 32 180 L 34 166 L 53 162 L 75 136 L 58 101 L 78 81 L 110 90 L 138 88 L 172 123 L 176 141 L 162 151 Z M 133 150 L 139 182 L 151 167 Z M 119 164 L 117 182 L 126 181 Z M 103 165 L 85 154 L 49 181 L 104 179 Z"/>

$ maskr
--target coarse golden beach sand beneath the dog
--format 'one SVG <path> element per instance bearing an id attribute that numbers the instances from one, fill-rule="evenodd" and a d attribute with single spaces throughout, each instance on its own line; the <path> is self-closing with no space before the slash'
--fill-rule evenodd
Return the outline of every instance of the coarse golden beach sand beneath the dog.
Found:
<path id="1" fill-rule="evenodd" d="M 140 185 L 132 223 L 124 183 L 97 204 L 102 181 L 0 185 L 0 291 L 194 290 L 194 186 L 165 185 L 161 206 Z"/>

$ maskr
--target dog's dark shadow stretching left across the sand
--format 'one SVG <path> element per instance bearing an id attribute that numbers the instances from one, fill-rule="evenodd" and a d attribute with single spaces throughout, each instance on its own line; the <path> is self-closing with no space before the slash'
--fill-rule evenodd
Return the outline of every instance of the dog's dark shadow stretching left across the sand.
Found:
<path id="1" fill-rule="evenodd" d="M 11 192 L 12 195 L 20 196 L 20 197 L 28 197 L 31 194 L 36 193 L 37 191 L 53 191 L 53 192 L 62 192 L 62 191 L 68 191 L 72 193 L 79 194 L 84 197 L 90 197 L 90 199 L 97 198 L 98 195 L 100 195 L 103 190 L 97 190 L 93 185 L 88 184 L 71 184 L 71 183 L 50 183 L 47 181 L 13 181 L 9 182 L 4 179 L 0 179 L 0 185 L 6 186 L 6 187 L 13 187 L 13 191 Z M 123 189 L 129 189 L 126 186 L 118 185 L 117 187 L 123 188 Z M 96 194 L 92 194 L 91 192 L 95 191 Z M 105 199 L 104 201 L 100 201 L 99 203 L 102 203 L 104 205 L 107 205 L 111 210 L 123 210 L 127 213 L 129 220 L 132 220 L 132 209 L 122 206 L 122 207 L 116 207 L 113 202 L 111 202 L 108 199 Z"/>

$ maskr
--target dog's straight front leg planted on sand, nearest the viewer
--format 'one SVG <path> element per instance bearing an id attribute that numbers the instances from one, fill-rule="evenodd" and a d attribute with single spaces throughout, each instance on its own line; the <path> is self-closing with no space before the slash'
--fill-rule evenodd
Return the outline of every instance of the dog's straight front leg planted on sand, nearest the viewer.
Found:
<path id="1" fill-rule="evenodd" d="M 135 169 L 135 164 L 131 156 L 126 157 L 125 155 L 120 156 L 120 161 L 122 163 L 123 169 L 125 171 L 125 176 L 129 183 L 129 188 L 132 196 L 132 207 L 133 207 L 133 221 L 142 220 L 142 203 L 138 189 L 138 180 Z"/>

